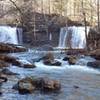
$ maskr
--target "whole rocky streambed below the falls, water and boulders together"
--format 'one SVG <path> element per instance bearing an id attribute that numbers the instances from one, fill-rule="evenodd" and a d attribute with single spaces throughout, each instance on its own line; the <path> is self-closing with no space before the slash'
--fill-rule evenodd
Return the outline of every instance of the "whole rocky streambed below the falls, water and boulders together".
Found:
<path id="1" fill-rule="evenodd" d="M 10 60 L 7 59 L 8 56 Z M 1 58 L 1 61 L 7 62 L 9 66 L 0 67 L 0 75 L 7 79 L 3 79 L 5 82 L 0 79 L 0 100 L 100 98 L 100 70 L 87 66 L 88 62 L 96 61 L 90 56 L 66 55 L 55 51 L 44 53 L 32 49 L 28 52 L 3 55 Z M 44 63 L 45 61 L 48 63 Z M 55 62 L 58 62 L 59 66 Z"/>

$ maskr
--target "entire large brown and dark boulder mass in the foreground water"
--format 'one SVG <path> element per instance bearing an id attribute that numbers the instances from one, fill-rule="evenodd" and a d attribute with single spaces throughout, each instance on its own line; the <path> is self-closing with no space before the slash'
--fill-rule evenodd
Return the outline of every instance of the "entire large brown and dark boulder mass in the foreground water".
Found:
<path id="1" fill-rule="evenodd" d="M 59 91 L 61 84 L 59 81 L 48 78 L 25 78 L 20 80 L 13 89 L 18 90 L 20 94 L 32 93 L 36 89 L 41 91 Z"/>

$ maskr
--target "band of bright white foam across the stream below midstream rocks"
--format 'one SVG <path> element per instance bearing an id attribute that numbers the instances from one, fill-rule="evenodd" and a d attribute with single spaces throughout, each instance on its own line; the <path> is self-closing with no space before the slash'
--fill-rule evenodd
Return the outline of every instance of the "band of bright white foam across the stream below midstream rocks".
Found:
<path id="1" fill-rule="evenodd" d="M 64 70 L 77 70 L 77 71 L 85 71 L 88 73 L 99 73 L 99 70 L 93 69 L 93 68 L 89 68 L 86 65 L 82 66 L 82 65 L 69 65 L 68 62 L 59 60 L 60 62 L 62 62 L 62 66 L 47 66 L 44 65 L 43 62 L 36 62 L 35 65 L 37 66 L 38 69 L 42 69 L 42 70 L 46 70 L 46 71 L 64 71 Z"/>

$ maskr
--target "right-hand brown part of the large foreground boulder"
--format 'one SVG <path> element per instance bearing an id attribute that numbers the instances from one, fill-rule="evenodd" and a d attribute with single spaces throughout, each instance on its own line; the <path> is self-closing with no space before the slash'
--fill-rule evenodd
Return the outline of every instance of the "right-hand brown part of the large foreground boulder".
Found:
<path id="1" fill-rule="evenodd" d="M 32 79 L 32 78 L 31 78 Z M 33 78 L 32 84 L 41 91 L 58 91 L 61 89 L 61 84 L 57 80 L 49 78 Z"/>

